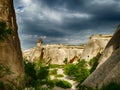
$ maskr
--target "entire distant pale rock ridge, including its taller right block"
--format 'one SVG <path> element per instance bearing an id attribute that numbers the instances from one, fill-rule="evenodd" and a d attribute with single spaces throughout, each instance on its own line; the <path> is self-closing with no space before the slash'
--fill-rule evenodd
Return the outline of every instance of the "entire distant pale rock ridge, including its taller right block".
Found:
<path id="1" fill-rule="evenodd" d="M 38 40 L 35 47 L 23 52 L 23 56 L 31 61 L 43 58 L 46 60 L 46 63 L 52 64 L 63 64 L 65 58 L 69 62 L 76 62 L 78 59 L 88 61 L 102 53 L 111 37 L 112 35 L 92 35 L 86 45 L 80 46 L 63 44 L 43 45 L 42 41 Z"/>

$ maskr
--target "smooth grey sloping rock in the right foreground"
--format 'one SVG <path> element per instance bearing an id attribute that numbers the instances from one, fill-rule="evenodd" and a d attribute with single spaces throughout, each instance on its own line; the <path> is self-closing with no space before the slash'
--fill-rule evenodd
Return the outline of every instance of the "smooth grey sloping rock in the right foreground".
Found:
<path id="1" fill-rule="evenodd" d="M 120 26 L 103 51 L 100 65 L 82 85 L 101 88 L 109 82 L 120 83 Z"/>

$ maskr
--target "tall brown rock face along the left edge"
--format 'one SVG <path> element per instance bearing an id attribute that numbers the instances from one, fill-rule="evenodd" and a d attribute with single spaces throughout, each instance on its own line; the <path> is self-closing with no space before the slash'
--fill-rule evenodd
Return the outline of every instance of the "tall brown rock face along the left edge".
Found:
<path id="1" fill-rule="evenodd" d="M 13 30 L 12 35 L 0 42 L 0 64 L 9 67 L 12 72 L 12 74 L 0 78 L 1 81 L 7 83 L 15 81 L 18 77 L 23 77 L 24 74 L 13 0 L 0 0 L 0 22 L 6 22 L 7 27 Z M 15 84 L 22 83 L 17 80 Z"/>

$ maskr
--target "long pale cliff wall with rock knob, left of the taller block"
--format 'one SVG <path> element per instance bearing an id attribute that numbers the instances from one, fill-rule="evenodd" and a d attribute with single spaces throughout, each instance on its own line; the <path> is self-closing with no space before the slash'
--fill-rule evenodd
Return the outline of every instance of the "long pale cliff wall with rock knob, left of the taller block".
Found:
<path id="1" fill-rule="evenodd" d="M 25 50 L 23 56 L 30 61 L 44 59 L 46 63 L 51 64 L 63 64 L 65 59 L 68 62 L 77 62 L 80 58 L 83 46 L 72 46 L 72 45 L 63 45 L 63 44 L 48 44 L 42 45 L 42 42 L 38 42 L 37 46 Z"/>

